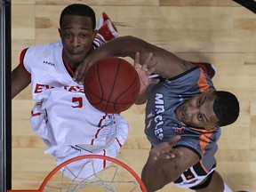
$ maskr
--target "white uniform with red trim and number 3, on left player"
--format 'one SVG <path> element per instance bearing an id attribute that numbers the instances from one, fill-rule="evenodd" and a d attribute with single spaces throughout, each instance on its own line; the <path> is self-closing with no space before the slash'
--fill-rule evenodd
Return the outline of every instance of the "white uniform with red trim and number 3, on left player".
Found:
<path id="1" fill-rule="evenodd" d="M 74 156 L 99 154 L 116 157 L 128 135 L 122 116 L 105 114 L 92 107 L 84 86 L 73 80 L 74 72 L 63 59 L 61 42 L 29 47 L 20 53 L 20 65 L 31 75 L 33 100 L 31 128 L 47 145 L 46 154 L 60 164 Z M 106 164 L 97 161 L 96 169 Z M 79 172 L 83 164 L 69 170 Z M 87 164 L 92 170 L 92 164 Z M 92 172 L 87 171 L 88 174 Z M 72 178 L 72 173 L 65 172 Z"/>

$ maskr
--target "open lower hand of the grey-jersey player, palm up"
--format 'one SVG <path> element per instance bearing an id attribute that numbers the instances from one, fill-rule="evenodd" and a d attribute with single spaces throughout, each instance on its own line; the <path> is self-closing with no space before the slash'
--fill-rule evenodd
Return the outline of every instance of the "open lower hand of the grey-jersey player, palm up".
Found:
<path id="1" fill-rule="evenodd" d="M 176 141 L 180 140 L 180 135 L 172 137 L 171 140 L 158 144 L 155 148 L 152 148 L 149 152 L 154 160 L 157 159 L 172 159 L 176 156 L 181 156 L 182 152 L 179 148 L 172 148 Z"/>

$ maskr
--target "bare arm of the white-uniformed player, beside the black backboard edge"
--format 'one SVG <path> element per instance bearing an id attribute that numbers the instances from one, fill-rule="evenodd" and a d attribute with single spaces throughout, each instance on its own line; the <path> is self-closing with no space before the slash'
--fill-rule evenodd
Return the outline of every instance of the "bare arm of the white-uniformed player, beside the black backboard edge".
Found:
<path id="1" fill-rule="evenodd" d="M 12 99 L 24 90 L 31 82 L 31 77 L 28 73 L 18 65 L 12 70 Z"/>

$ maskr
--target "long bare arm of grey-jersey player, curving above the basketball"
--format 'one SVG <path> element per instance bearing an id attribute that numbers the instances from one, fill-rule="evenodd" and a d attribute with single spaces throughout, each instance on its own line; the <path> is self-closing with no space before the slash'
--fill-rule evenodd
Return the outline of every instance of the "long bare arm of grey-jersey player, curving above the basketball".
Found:
<path id="1" fill-rule="evenodd" d="M 92 63 L 96 60 L 110 56 L 129 56 L 134 60 L 136 52 L 140 52 L 140 63 L 143 63 L 148 57 L 148 53 L 152 52 L 154 56 L 152 60 L 150 60 L 148 67 L 150 68 L 158 62 L 159 66 L 156 68 L 156 74 L 164 76 L 165 78 L 180 75 L 180 73 L 183 73 L 189 68 L 195 67 L 189 62 L 181 60 L 179 57 L 172 54 L 172 52 L 168 52 L 153 44 L 148 44 L 140 38 L 134 36 L 122 36 L 93 50 L 84 62 L 76 68 L 74 79 L 78 82 L 83 81 L 85 71 L 90 68 Z"/>

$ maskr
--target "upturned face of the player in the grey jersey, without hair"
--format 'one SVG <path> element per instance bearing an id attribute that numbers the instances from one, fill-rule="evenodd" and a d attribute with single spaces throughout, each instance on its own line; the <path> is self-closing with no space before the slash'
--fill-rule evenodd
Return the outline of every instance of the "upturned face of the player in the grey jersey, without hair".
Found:
<path id="1" fill-rule="evenodd" d="M 219 120 L 213 111 L 215 99 L 216 95 L 213 92 L 203 92 L 180 104 L 175 110 L 175 115 L 183 124 L 217 130 Z"/>

